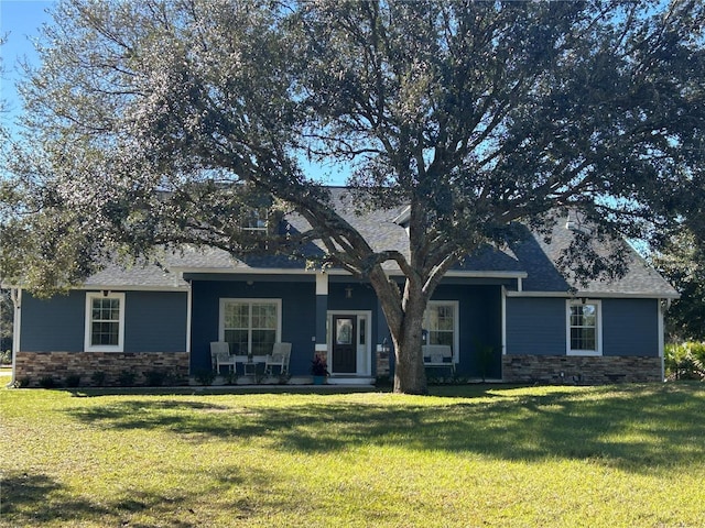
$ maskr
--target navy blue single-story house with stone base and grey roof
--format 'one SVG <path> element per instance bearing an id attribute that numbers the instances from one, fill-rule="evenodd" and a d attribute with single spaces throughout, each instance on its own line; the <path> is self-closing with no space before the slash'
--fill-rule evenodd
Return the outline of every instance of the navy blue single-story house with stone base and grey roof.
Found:
<path id="1" fill-rule="evenodd" d="M 332 194 L 375 249 L 408 251 L 403 209 L 356 216 L 345 189 Z M 556 266 L 575 230 L 571 222 L 556 226 L 551 243 L 528 233 L 447 273 L 429 304 L 424 339 L 449 351 L 456 376 L 663 380 L 663 314 L 676 292 L 633 251 L 623 278 L 575 287 Z M 394 264 L 384 266 L 401 280 Z M 66 296 L 44 300 L 20 288 L 15 297 L 13 375 L 32 385 L 72 374 L 88 385 L 96 372 L 108 385 L 130 373 L 141 384 L 150 372 L 186 383 L 212 369 L 212 342 L 260 359 L 273 343 L 291 343 L 292 382 L 311 380 L 315 353 L 327 356 L 329 383 L 372 383 L 393 371 L 389 329 L 370 285 L 303 260 L 234 258 L 184 246 L 159 268 L 108 266 Z"/>

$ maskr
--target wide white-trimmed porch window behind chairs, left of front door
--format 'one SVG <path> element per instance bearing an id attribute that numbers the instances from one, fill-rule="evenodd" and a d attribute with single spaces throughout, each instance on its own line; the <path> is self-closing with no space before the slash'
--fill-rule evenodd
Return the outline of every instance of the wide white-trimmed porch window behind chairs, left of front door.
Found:
<path id="1" fill-rule="evenodd" d="M 281 341 L 281 299 L 220 299 L 219 339 L 231 354 L 270 354 Z"/>

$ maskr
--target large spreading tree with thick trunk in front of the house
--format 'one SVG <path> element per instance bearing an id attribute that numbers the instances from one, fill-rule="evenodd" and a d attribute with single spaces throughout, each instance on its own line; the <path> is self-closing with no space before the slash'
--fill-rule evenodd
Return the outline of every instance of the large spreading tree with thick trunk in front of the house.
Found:
<path id="1" fill-rule="evenodd" d="M 31 150 L 7 273 L 55 288 L 119 250 L 251 250 L 237 211 L 271 196 L 329 263 L 370 280 L 424 393 L 421 323 L 480 244 L 576 208 L 598 226 L 566 265 L 623 272 L 589 244 L 646 237 L 701 177 L 704 8 L 585 2 L 67 0 L 25 86 Z M 368 207 L 409 206 L 410 251 L 372 249 L 302 160 L 346 164 Z M 241 185 L 236 185 L 241 184 Z M 390 280 L 381 264 L 404 275 Z M 576 260 L 582 262 L 575 262 Z M 56 261 L 62 265 L 57 266 Z M 21 265 L 17 265 L 21 263 Z M 48 265 L 46 265 L 48 263 Z"/>

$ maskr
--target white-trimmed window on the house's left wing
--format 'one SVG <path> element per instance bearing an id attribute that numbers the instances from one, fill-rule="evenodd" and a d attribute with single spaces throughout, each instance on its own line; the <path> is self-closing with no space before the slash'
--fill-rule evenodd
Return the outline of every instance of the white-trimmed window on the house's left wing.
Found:
<path id="1" fill-rule="evenodd" d="M 124 349 L 124 294 L 86 294 L 87 352 L 122 352 Z"/>

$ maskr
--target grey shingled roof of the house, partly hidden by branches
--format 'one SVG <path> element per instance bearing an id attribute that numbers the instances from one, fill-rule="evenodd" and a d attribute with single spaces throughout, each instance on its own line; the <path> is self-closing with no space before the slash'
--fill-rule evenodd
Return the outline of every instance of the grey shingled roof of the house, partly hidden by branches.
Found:
<path id="1" fill-rule="evenodd" d="M 376 251 L 398 250 L 409 254 L 409 238 L 403 226 L 403 207 L 388 209 L 356 210 L 352 193 L 343 187 L 332 187 L 330 195 L 338 213 L 349 222 Z M 303 231 L 306 222 L 296 215 L 285 219 L 293 229 Z M 677 293 L 653 268 L 629 248 L 630 266 L 626 276 L 618 280 L 593 280 L 581 286 L 570 276 L 562 274 L 557 261 L 562 250 L 571 244 L 575 233 L 565 223 L 555 226 L 551 242 L 544 237 L 529 232 L 524 240 L 503 248 L 486 245 L 475 254 L 458 263 L 451 274 L 455 276 L 516 277 L 522 279 L 522 290 L 527 294 L 568 294 L 603 296 L 633 296 L 675 298 Z M 620 242 L 626 243 L 626 242 Z M 323 249 L 313 246 L 312 251 Z M 384 263 L 388 273 L 399 273 L 397 264 Z M 163 266 L 133 266 L 124 270 L 110 265 L 89 277 L 85 287 L 109 287 L 111 289 L 181 289 L 186 284 L 182 273 L 198 274 L 247 274 L 247 273 L 304 273 L 305 262 L 285 255 L 250 255 L 236 258 L 217 249 L 198 249 L 185 245 L 180 251 L 164 255 Z"/>

